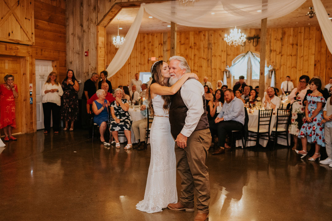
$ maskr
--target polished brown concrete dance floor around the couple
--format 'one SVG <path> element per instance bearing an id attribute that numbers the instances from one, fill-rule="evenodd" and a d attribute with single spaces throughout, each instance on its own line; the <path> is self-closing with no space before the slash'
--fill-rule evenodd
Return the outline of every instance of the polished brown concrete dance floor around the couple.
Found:
<path id="1" fill-rule="evenodd" d="M 82 130 L 17 136 L 0 147 L 0 220 L 193 220 L 148 214 L 143 199 L 150 148 L 104 148 Z M 211 150 L 212 151 L 212 150 Z M 214 220 L 332 220 L 332 168 L 286 148 L 210 154 Z M 180 188 L 179 180 L 177 182 Z"/>

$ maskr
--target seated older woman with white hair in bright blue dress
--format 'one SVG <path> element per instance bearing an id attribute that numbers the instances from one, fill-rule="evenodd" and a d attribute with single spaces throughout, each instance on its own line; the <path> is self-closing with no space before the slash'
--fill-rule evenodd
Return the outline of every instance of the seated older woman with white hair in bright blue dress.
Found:
<path id="1" fill-rule="evenodd" d="M 106 83 L 106 82 L 105 82 Z M 106 83 L 107 84 L 107 83 Z M 92 111 L 95 114 L 93 117 L 93 122 L 98 124 L 99 133 L 100 133 L 100 141 L 105 142 L 104 133 L 107 127 L 108 121 L 108 106 L 110 102 L 106 100 L 105 91 L 102 89 L 97 90 L 96 95 L 98 97 L 97 100 L 92 103 Z"/>

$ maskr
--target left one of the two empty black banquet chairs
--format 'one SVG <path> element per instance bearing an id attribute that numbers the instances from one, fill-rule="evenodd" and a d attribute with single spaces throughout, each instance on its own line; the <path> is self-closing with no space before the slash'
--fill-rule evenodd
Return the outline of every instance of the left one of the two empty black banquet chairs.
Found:
<path id="1" fill-rule="evenodd" d="M 247 137 L 247 141 L 256 141 L 255 151 L 258 149 L 259 139 L 270 139 L 270 125 L 272 119 L 272 111 L 273 110 L 258 110 L 258 123 L 257 127 L 248 128 L 248 132 L 253 133 L 254 135 L 250 135 Z M 266 129 L 268 127 L 268 129 Z M 251 139 L 251 138 L 255 139 Z"/>

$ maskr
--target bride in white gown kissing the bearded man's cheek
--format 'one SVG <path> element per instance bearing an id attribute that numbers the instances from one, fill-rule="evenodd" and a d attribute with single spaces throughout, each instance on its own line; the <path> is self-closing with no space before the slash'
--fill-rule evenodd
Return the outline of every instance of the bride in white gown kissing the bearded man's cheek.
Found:
<path id="1" fill-rule="evenodd" d="M 164 61 L 155 62 L 151 74 L 152 82 L 148 88 L 149 110 L 154 115 L 150 131 L 151 160 L 144 199 L 136 204 L 136 209 L 148 213 L 161 212 L 169 203 L 178 201 L 175 141 L 168 120 L 169 95 L 175 94 L 188 78 L 198 79 L 196 74 L 187 73 L 169 87 L 169 67 Z"/>

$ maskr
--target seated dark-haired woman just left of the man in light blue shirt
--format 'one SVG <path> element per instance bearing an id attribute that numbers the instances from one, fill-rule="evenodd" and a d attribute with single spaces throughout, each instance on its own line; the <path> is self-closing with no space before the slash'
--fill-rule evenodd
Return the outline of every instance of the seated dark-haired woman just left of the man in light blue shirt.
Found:
<path id="1" fill-rule="evenodd" d="M 217 89 L 213 96 L 213 100 L 210 100 L 208 102 L 209 111 L 207 112 L 207 119 L 208 119 L 208 124 L 210 126 L 215 124 L 214 119 L 217 117 L 218 113 L 221 111 L 221 110 L 219 110 L 219 104 L 222 107 L 224 102 L 225 102 L 224 91 L 221 89 Z M 212 140 L 214 140 L 214 135 L 217 135 L 214 132 L 215 131 L 213 131 L 213 130 L 211 131 Z M 213 143 L 213 141 L 212 141 L 212 143 Z M 211 143 L 211 146 L 214 146 L 214 144 L 212 144 L 212 143 Z"/>

